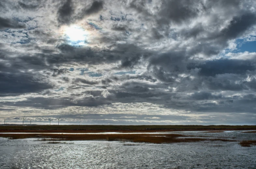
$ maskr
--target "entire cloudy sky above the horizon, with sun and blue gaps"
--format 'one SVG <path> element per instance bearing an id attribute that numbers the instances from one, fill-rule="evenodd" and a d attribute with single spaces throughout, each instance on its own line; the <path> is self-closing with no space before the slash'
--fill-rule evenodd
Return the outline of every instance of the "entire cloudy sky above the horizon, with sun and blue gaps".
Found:
<path id="1" fill-rule="evenodd" d="M 255 125 L 255 6 L 1 0 L 1 123 Z"/>

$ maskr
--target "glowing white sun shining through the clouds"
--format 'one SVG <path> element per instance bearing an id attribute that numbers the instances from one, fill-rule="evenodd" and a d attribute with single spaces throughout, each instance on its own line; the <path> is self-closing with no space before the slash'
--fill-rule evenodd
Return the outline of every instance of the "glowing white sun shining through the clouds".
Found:
<path id="1" fill-rule="evenodd" d="M 85 45 L 88 33 L 82 27 L 70 26 L 65 29 L 64 33 L 70 45 Z"/>

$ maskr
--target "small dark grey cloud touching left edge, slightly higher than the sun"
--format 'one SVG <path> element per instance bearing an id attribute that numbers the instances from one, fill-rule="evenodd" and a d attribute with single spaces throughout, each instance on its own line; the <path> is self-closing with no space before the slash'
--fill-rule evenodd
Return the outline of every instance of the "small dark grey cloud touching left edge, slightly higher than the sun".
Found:
<path id="1" fill-rule="evenodd" d="M 19 23 L 17 20 L 0 17 L 0 30 L 10 28 L 20 29 L 25 27 L 26 26 L 23 23 Z"/>

